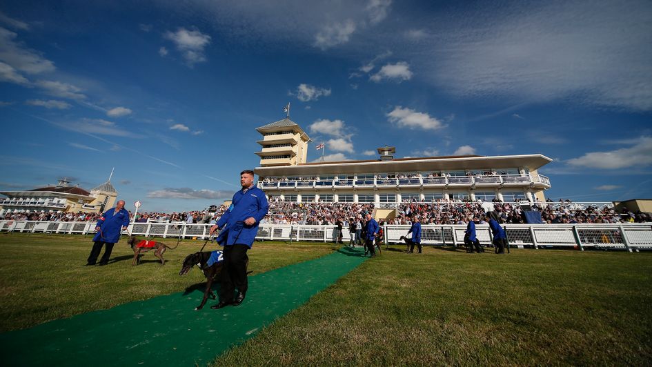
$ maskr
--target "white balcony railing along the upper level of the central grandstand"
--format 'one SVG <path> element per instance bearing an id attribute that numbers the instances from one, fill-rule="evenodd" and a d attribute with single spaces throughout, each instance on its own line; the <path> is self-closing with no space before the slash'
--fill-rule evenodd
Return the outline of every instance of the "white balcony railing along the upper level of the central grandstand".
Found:
<path id="1" fill-rule="evenodd" d="M 448 176 L 448 177 L 411 177 L 346 180 L 274 180 L 259 181 L 261 189 L 284 188 L 320 188 L 320 187 L 365 187 L 365 186 L 524 186 L 529 184 L 544 184 L 550 186 L 550 179 L 544 175 L 486 175 L 486 176 Z"/>

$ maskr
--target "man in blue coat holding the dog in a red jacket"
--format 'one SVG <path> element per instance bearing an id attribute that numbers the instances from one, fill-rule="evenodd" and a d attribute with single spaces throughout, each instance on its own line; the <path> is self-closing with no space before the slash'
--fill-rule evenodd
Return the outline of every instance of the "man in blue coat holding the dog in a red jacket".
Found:
<path id="1" fill-rule="evenodd" d="M 95 225 L 95 231 L 97 232 L 93 237 L 95 244 L 90 250 L 86 265 L 95 265 L 99 252 L 101 252 L 104 245 L 106 245 L 106 248 L 104 248 L 104 255 L 99 260 L 99 264 L 108 264 L 113 245 L 120 239 L 120 232 L 126 230 L 127 226 L 129 226 L 129 212 L 124 208 L 124 200 L 118 200 L 115 208 L 106 210 Z"/>

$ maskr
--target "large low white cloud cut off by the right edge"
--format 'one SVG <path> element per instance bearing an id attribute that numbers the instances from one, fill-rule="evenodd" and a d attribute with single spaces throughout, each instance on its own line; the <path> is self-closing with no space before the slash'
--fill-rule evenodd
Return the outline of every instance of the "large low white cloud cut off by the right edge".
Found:
<path id="1" fill-rule="evenodd" d="M 582 157 L 569 159 L 575 167 L 613 170 L 629 167 L 646 167 L 652 164 L 652 137 L 640 137 L 629 148 L 607 152 L 589 152 Z"/>

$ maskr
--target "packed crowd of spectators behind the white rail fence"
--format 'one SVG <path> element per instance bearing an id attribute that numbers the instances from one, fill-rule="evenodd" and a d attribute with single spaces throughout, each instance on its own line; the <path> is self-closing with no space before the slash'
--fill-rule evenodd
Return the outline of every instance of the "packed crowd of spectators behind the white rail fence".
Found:
<path id="1" fill-rule="evenodd" d="M 374 204 L 363 203 L 295 203 L 287 201 L 270 201 L 270 210 L 262 223 L 269 224 L 310 224 L 310 225 L 335 225 L 343 221 L 346 226 L 352 221 L 360 221 L 364 213 L 373 212 Z M 224 214 L 226 207 L 214 207 L 213 210 L 196 210 L 190 212 L 142 212 L 135 218 L 136 223 L 148 221 L 175 222 L 187 224 L 215 223 Z M 418 217 L 422 224 L 459 224 L 468 223 L 468 218 L 473 216 L 475 221 L 480 221 L 488 211 L 495 212 L 497 220 L 502 224 L 524 223 L 524 210 L 533 210 L 541 213 L 544 223 L 548 224 L 614 224 L 614 223 L 643 223 L 652 221 L 649 214 L 644 212 L 631 212 L 624 208 L 616 212 L 613 208 L 580 208 L 564 202 L 564 205 L 553 206 L 549 203 L 529 203 L 522 206 L 517 203 L 503 203 L 494 200 L 491 203 L 482 201 L 444 201 L 435 202 L 404 202 L 399 204 L 395 215 L 384 219 L 386 224 L 411 224 L 413 218 Z M 133 213 L 132 213 L 133 215 Z M 0 217 L 2 220 L 17 221 L 97 221 L 101 214 L 83 212 L 7 212 Z M 132 218 L 132 221 L 134 219 Z"/>

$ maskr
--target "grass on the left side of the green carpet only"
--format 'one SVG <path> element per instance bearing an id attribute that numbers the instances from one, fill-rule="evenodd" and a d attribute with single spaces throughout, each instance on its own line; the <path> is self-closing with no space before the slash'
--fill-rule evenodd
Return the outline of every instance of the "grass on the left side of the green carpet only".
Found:
<path id="1" fill-rule="evenodd" d="M 186 255 L 204 241 L 182 241 L 167 250 L 166 265 L 150 252 L 131 266 L 133 251 L 122 239 L 113 248 L 108 266 L 83 266 L 92 246 L 90 236 L 0 234 L 0 331 L 28 328 L 45 321 L 130 301 L 181 292 L 205 278 L 194 268 L 179 276 Z M 176 239 L 161 239 L 170 246 Z M 205 250 L 215 250 L 208 244 Z M 339 247 L 257 243 L 248 255 L 255 275 L 326 255 Z"/>

